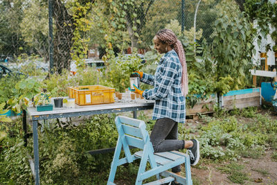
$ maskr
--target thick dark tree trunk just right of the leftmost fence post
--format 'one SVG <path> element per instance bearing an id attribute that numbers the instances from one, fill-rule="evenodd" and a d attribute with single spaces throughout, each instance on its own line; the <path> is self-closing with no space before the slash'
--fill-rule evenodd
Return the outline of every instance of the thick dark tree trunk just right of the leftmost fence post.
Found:
<path id="1" fill-rule="evenodd" d="M 62 69 L 70 69 L 75 26 L 73 26 L 73 17 L 69 15 L 60 0 L 53 1 L 53 18 L 55 19 L 53 67 L 57 73 L 62 73 Z"/>

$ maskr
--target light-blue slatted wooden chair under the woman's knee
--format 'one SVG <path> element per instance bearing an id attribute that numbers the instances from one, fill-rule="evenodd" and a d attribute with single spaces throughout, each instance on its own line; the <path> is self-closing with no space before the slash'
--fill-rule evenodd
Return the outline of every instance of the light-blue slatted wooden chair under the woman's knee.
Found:
<path id="1" fill-rule="evenodd" d="M 148 131 L 145 130 L 144 121 L 128 118 L 126 116 L 116 117 L 116 127 L 118 130 L 118 141 L 114 152 L 114 159 L 111 162 L 111 170 L 107 184 L 114 184 L 116 168 L 126 163 L 132 163 L 136 159 L 141 159 L 136 184 L 141 185 L 144 179 L 148 179 L 156 175 L 157 180 L 150 182 L 147 185 L 165 184 L 176 181 L 180 184 L 192 185 L 190 173 L 190 157 L 182 152 L 158 152 L 154 153 L 152 143 Z M 130 146 L 140 148 L 141 151 L 135 152 L 133 155 L 130 151 Z M 125 157 L 119 159 L 121 149 L 123 148 Z M 147 162 L 150 163 L 151 169 L 145 171 Z M 185 164 L 186 177 L 181 177 L 169 170 L 180 164 Z M 163 179 L 161 179 L 163 177 Z"/>

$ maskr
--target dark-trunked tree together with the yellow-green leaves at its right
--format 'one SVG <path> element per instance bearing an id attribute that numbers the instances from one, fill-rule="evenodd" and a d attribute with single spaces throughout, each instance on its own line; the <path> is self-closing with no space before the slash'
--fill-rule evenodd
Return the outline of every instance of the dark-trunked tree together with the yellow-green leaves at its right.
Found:
<path id="1" fill-rule="evenodd" d="M 83 23 L 82 21 L 87 24 L 88 20 L 83 18 L 87 15 L 93 2 L 93 0 L 53 1 L 53 18 L 55 19 L 53 60 L 57 73 L 62 73 L 62 69 L 70 69 L 72 56 L 77 60 L 86 55 L 86 49 L 83 46 L 84 40 L 78 39 L 84 32 L 78 26 Z M 83 8 L 78 6 L 83 6 Z"/>

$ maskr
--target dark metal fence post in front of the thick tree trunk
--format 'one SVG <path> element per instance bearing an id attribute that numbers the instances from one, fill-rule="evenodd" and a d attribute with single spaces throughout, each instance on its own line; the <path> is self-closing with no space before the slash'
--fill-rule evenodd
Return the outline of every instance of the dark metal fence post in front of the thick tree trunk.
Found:
<path id="1" fill-rule="evenodd" d="M 53 0 L 48 0 L 49 14 L 49 72 L 53 73 Z"/>

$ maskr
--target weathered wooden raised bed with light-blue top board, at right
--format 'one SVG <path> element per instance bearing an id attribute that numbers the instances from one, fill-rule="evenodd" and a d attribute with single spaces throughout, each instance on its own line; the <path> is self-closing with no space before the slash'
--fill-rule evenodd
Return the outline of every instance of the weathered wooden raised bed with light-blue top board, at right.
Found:
<path id="1" fill-rule="evenodd" d="M 260 106 L 262 102 L 260 87 L 229 91 L 220 96 L 220 107 L 224 109 Z"/>

